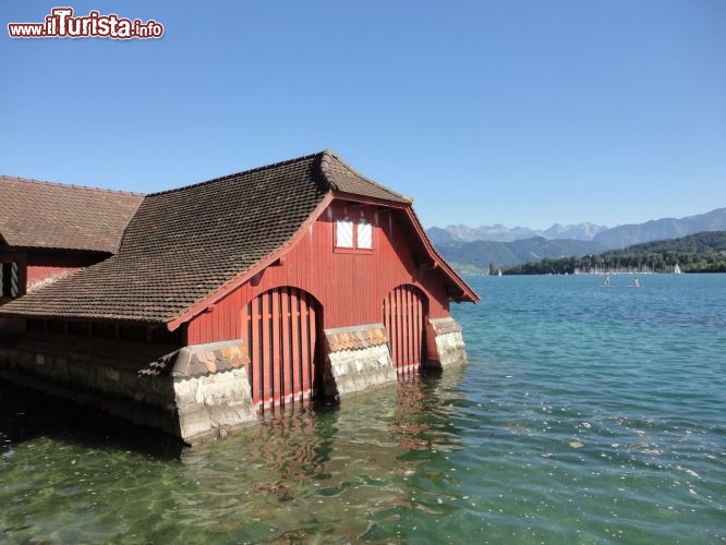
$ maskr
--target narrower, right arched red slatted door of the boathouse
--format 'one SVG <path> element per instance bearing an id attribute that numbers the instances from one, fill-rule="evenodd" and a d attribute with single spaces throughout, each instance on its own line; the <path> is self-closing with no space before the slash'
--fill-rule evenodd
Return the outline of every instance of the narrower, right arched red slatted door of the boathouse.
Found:
<path id="1" fill-rule="evenodd" d="M 418 372 L 426 358 L 427 299 L 415 286 L 401 284 L 383 302 L 383 323 L 389 337 L 390 355 L 399 375 Z"/>

